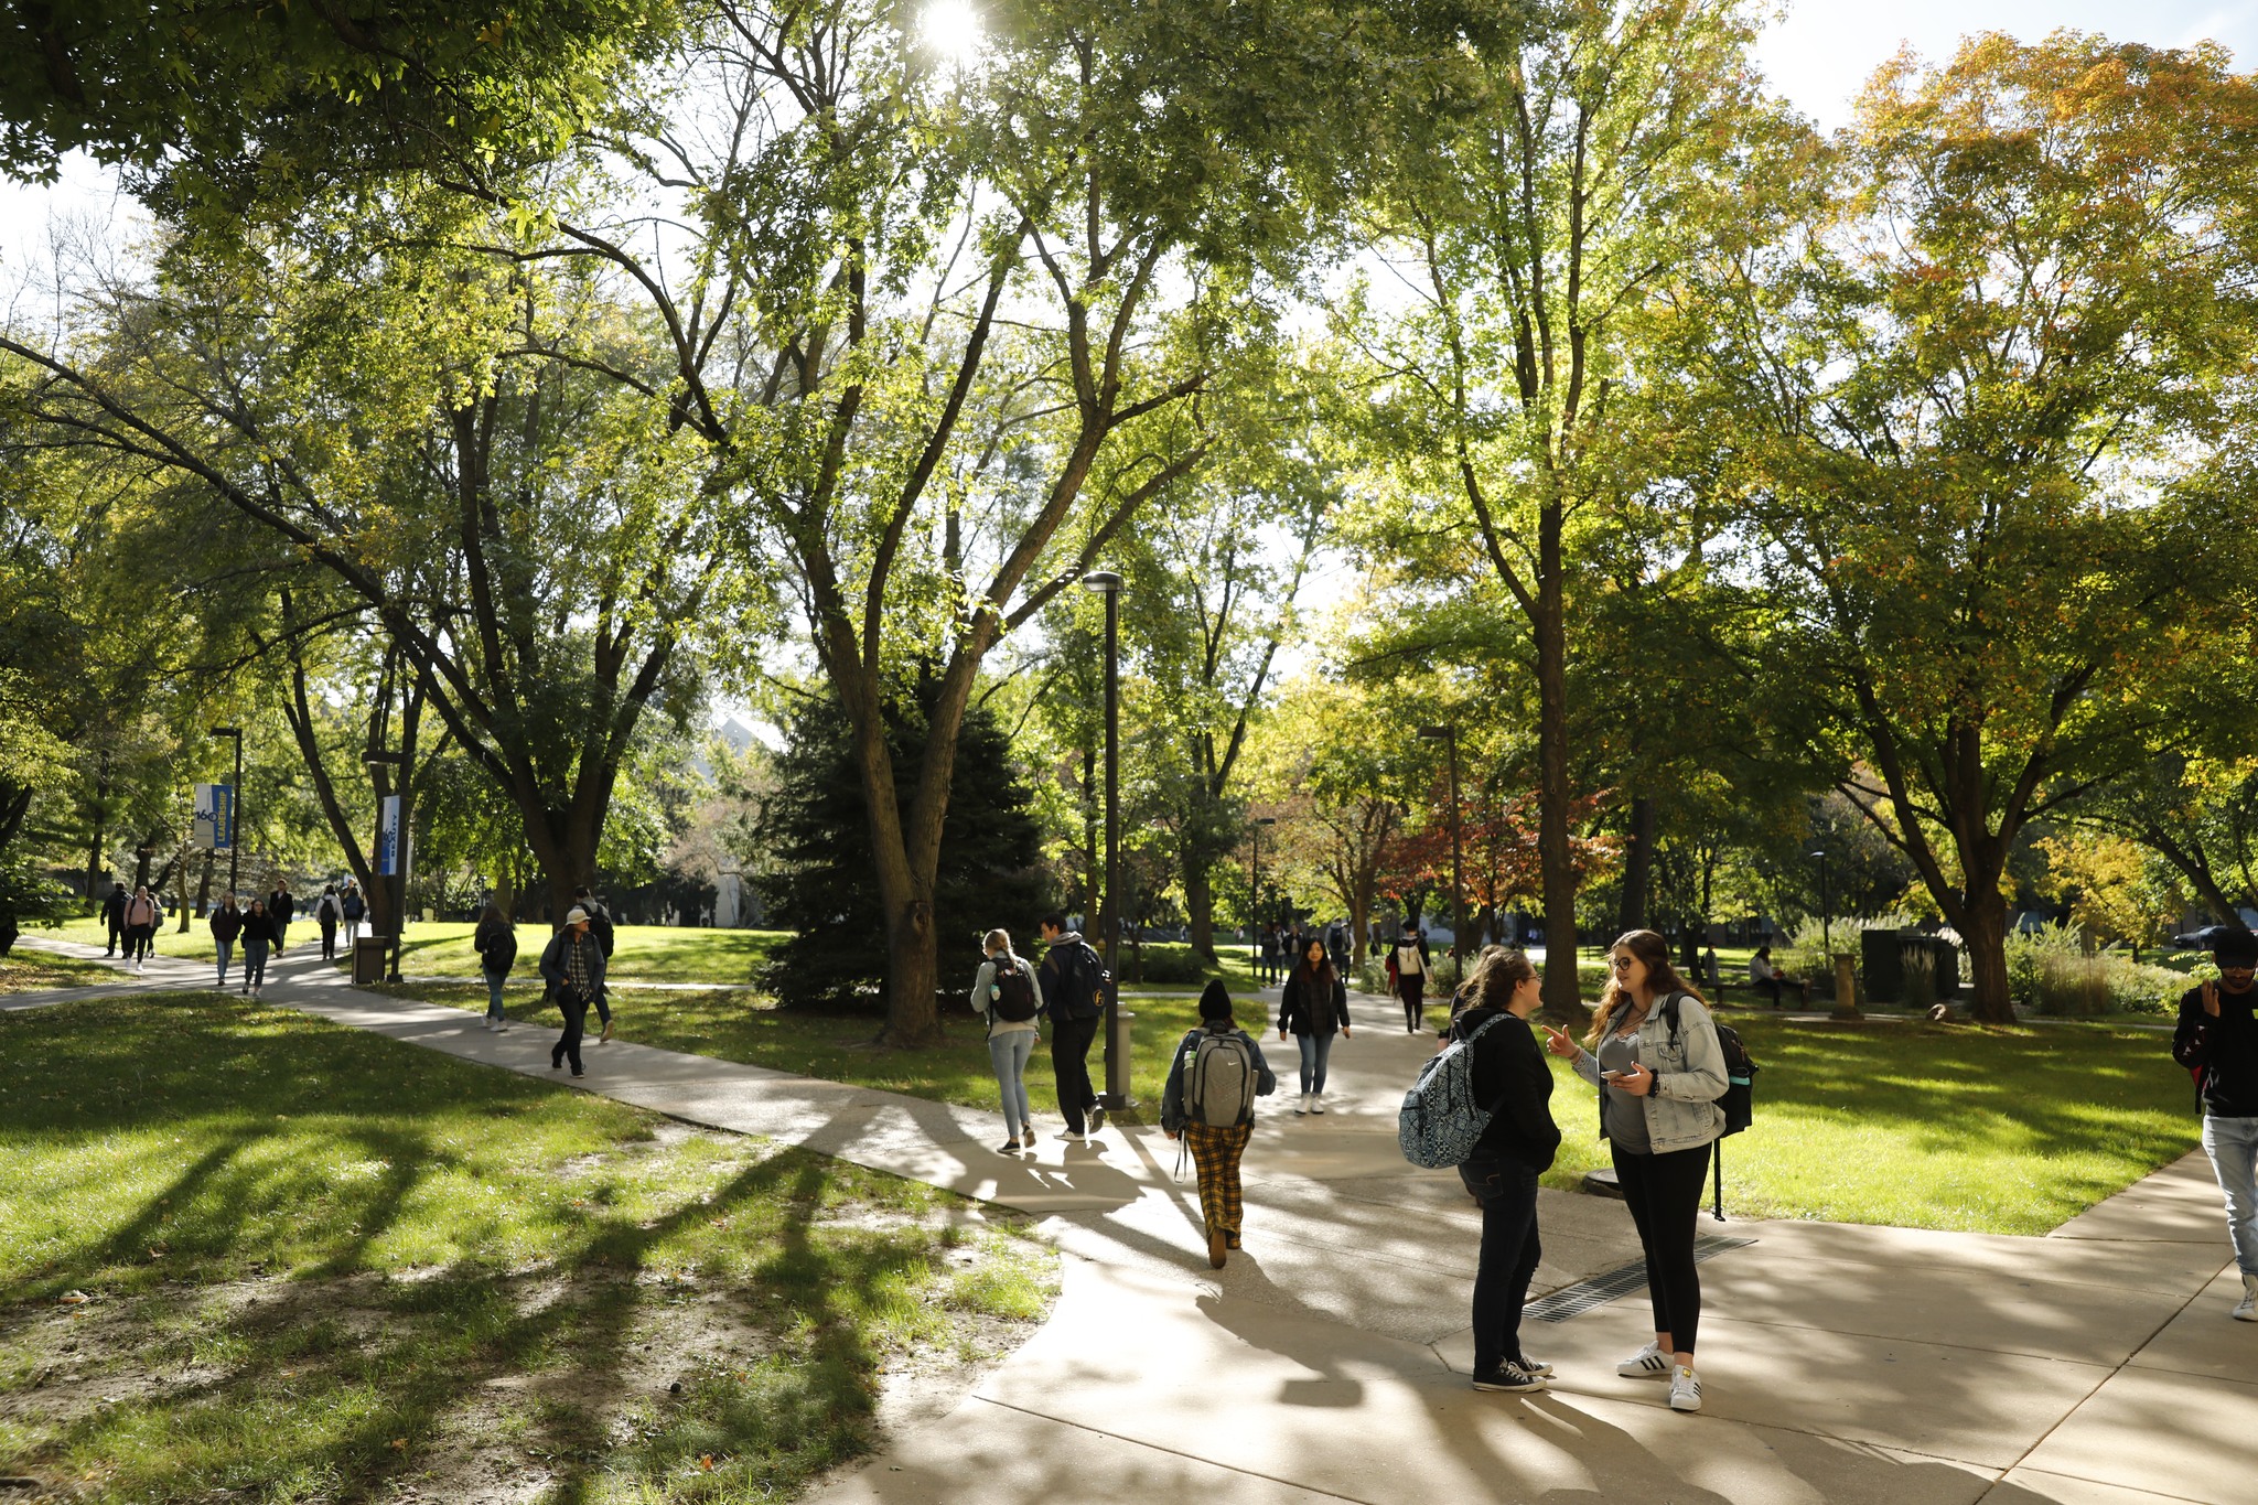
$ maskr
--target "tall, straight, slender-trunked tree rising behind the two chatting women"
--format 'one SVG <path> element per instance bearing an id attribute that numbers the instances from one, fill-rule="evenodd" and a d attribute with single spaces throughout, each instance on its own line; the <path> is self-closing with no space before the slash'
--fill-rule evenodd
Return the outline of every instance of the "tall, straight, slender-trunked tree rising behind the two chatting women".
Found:
<path id="1" fill-rule="evenodd" d="M 1538 711 L 1544 939 L 1576 950 L 1569 684 L 1578 591 L 1605 512 L 1637 490 L 1621 413 L 1639 320 L 1696 246 L 1732 235 L 1736 185 L 1777 131 L 1739 0 L 1499 7 L 1459 32 L 1463 111 L 1373 203 L 1400 307 L 1350 305 L 1380 395 L 1391 539 L 1427 571 L 1488 575 L 1526 623 Z M 1544 1009 L 1581 1018 L 1576 970 Z"/>

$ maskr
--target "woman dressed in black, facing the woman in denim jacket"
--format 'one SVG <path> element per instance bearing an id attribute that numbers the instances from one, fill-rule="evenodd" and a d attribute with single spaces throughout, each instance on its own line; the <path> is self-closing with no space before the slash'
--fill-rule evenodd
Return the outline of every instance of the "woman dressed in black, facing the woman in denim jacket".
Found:
<path id="1" fill-rule="evenodd" d="M 1549 1363 L 1522 1352 L 1522 1306 L 1544 1248 L 1538 1241 L 1538 1176 L 1551 1169 L 1560 1128 L 1551 1117 L 1551 1067 L 1529 1015 L 1542 1004 L 1538 970 L 1517 950 L 1486 945 L 1459 988 L 1445 1031 L 1470 1040 L 1474 1101 L 1493 1108 L 1459 1180 L 1481 1203 L 1474 1266 L 1474 1390 L 1544 1390 Z"/>

